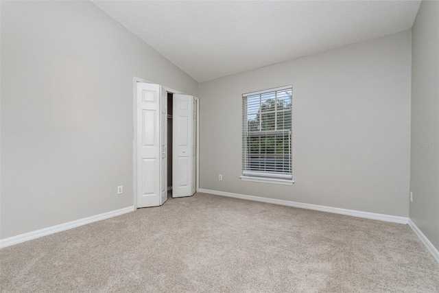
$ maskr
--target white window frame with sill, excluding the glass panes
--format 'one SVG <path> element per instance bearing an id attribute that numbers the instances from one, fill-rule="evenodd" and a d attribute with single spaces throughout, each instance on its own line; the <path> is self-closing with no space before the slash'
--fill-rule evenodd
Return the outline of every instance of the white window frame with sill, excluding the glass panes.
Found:
<path id="1" fill-rule="evenodd" d="M 241 180 L 243 181 L 250 181 L 250 182 L 259 182 L 259 183 L 274 183 L 274 184 L 280 184 L 280 185 L 292 185 L 294 183 L 293 180 L 293 172 L 292 172 L 292 120 L 291 120 L 291 128 L 289 129 L 275 129 L 275 130 L 258 130 L 258 131 L 253 131 L 253 133 L 251 133 L 251 131 L 248 131 L 248 116 L 254 115 L 254 113 L 248 113 L 248 100 L 247 98 L 250 96 L 255 96 L 255 95 L 263 95 L 263 94 L 269 94 L 269 93 L 274 93 L 275 97 L 276 97 L 276 101 L 277 101 L 277 95 L 276 92 L 278 91 L 291 91 L 291 105 L 292 105 L 292 95 L 293 95 L 293 86 L 292 85 L 288 85 L 288 86 L 279 86 L 276 87 L 274 89 L 265 89 L 262 91 L 255 91 L 252 93 L 244 93 L 242 95 L 242 165 L 241 165 L 241 176 L 239 178 L 241 178 Z M 259 104 L 259 109 L 258 109 L 258 113 L 260 113 L 260 115 L 263 114 L 267 114 L 270 112 L 275 113 L 275 119 L 274 119 L 274 125 L 275 128 L 277 128 L 277 123 L 278 121 L 277 119 L 277 114 L 278 113 L 290 113 L 291 115 L 291 119 L 292 119 L 292 106 L 291 109 L 287 109 L 287 110 L 278 110 L 277 108 L 275 110 L 270 110 L 270 111 L 265 111 L 265 112 L 261 112 L 261 105 L 262 105 L 262 99 L 261 102 Z M 276 104 L 277 107 L 277 104 Z M 260 122 L 261 123 L 261 122 Z M 260 137 L 265 137 L 268 138 L 270 136 L 272 137 L 276 137 L 279 135 L 289 135 L 289 151 L 288 152 L 283 152 L 282 156 L 285 156 L 285 154 L 287 154 L 289 156 L 289 173 L 285 173 L 285 172 L 267 172 L 267 171 L 257 171 L 257 170 L 251 170 L 250 168 L 248 168 L 248 157 L 250 155 L 250 152 L 248 150 L 248 137 L 254 136 L 254 137 L 258 137 L 258 132 L 260 132 L 261 135 Z M 271 133 L 270 133 L 271 132 Z M 249 136 L 249 133 L 250 136 Z M 261 148 L 261 145 L 259 145 L 259 148 Z M 247 166 L 247 167 L 246 167 Z"/>

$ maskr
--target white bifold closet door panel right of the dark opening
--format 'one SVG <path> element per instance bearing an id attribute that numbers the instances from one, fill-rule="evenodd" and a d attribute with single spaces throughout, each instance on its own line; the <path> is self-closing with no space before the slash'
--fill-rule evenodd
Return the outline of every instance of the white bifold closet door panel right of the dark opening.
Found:
<path id="1" fill-rule="evenodd" d="M 172 197 L 195 193 L 193 163 L 193 97 L 174 94 L 172 113 Z"/>

